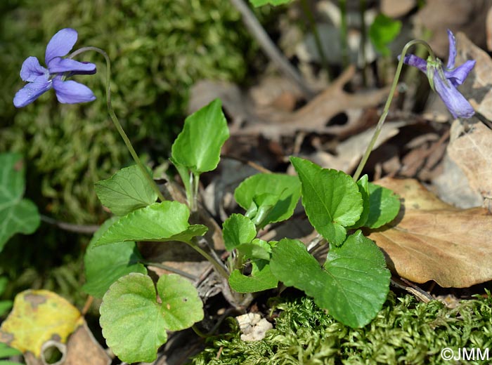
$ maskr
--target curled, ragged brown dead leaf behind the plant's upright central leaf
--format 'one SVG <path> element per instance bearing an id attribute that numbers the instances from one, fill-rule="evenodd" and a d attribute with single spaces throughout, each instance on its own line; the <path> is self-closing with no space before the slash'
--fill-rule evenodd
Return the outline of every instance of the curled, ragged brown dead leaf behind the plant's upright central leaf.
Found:
<path id="1" fill-rule="evenodd" d="M 271 140 L 294 135 L 297 131 L 340 135 L 348 130 L 354 131 L 354 124 L 359 124 L 360 120 L 349 119 L 343 126 L 326 126 L 328 121 L 342 112 L 351 115 L 351 111 L 375 107 L 389 91 L 389 88 L 383 88 L 347 93 L 344 85 L 354 77 L 354 73 L 354 67 L 349 67 L 325 91 L 294 112 L 279 110 L 272 104 L 257 105 L 233 84 L 200 81 L 191 90 L 188 110 L 194 112 L 214 98 L 221 98 L 224 109 L 233 121 L 231 135 L 261 133 Z"/>

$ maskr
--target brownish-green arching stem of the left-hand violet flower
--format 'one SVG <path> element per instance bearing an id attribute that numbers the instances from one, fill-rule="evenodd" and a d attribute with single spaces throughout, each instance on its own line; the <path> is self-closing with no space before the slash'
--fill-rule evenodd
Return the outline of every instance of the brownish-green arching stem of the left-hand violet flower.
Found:
<path id="1" fill-rule="evenodd" d="M 111 76 L 111 60 L 108 56 L 108 53 L 105 53 L 101 48 L 97 47 L 83 47 L 78 49 L 75 52 L 72 52 L 68 58 L 74 58 L 76 55 L 79 55 L 80 53 L 86 52 L 86 51 L 96 51 L 97 53 L 100 53 L 103 55 L 103 57 L 106 60 L 106 105 L 108 106 L 108 113 L 110 114 L 112 123 L 115 124 L 115 127 L 123 138 L 124 144 L 127 145 L 127 149 L 129 150 L 131 157 L 133 157 L 135 163 L 137 166 L 140 168 L 142 171 L 143 175 L 145 176 L 145 179 L 147 179 L 148 183 L 150 186 L 153 188 L 155 193 L 157 194 L 157 197 L 159 197 L 160 201 L 166 200 L 164 198 L 164 195 L 162 195 L 162 192 L 160 192 L 159 187 L 155 184 L 152 175 L 150 175 L 149 171 L 145 166 L 143 165 L 142 161 L 138 158 L 138 154 L 136 154 L 134 146 L 131 145 L 131 142 L 127 136 L 127 133 L 124 132 L 122 125 L 119 123 L 119 119 L 116 117 L 115 110 L 112 107 L 111 103 L 111 89 L 110 89 L 110 76 Z"/>

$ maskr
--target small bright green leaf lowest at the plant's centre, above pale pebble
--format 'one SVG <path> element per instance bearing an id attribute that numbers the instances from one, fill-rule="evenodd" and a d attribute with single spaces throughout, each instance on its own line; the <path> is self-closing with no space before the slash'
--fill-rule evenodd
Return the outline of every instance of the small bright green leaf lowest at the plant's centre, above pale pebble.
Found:
<path id="1" fill-rule="evenodd" d="M 254 260 L 251 262 L 251 275 L 241 274 L 234 270 L 229 277 L 229 285 L 238 293 L 256 293 L 266 289 L 276 288 L 278 280 L 273 276 L 267 260 Z"/>

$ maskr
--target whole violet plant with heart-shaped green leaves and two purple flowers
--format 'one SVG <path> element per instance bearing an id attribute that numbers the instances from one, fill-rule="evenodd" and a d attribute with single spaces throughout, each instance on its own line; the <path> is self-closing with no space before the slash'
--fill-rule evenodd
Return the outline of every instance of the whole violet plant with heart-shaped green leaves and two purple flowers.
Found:
<path id="1" fill-rule="evenodd" d="M 54 88 L 60 102 L 91 101 L 93 95 L 89 88 L 66 79 L 74 74 L 95 72 L 95 65 L 73 60 L 77 55 L 96 51 L 105 57 L 108 111 L 136 164 L 96 183 L 96 194 L 115 217 L 94 234 L 86 251 L 83 289 L 103 298 L 100 308 L 103 336 L 122 361 L 154 361 L 158 348 L 167 341 L 167 330 L 188 328 L 204 317 L 198 291 L 187 279 L 164 274 L 154 284 L 138 253 L 137 241 L 188 244 L 214 265 L 216 274 L 238 296 L 277 288 L 281 282 L 301 289 L 333 318 L 351 328 L 361 328 L 376 317 L 387 298 L 391 275 L 382 251 L 363 235 L 362 229 L 389 223 L 399 212 L 400 201 L 390 190 L 369 183 L 367 175 L 361 178 L 359 175 L 386 117 L 392 92 L 354 177 L 291 157 L 297 176 L 260 173 L 237 187 L 234 197 L 244 213 L 231 215 L 222 226 L 224 244 L 231 252 L 224 263 L 216 253 L 198 243 L 207 226 L 189 222 L 190 213 L 199 209 L 200 175 L 217 167 L 221 147 L 229 136 L 221 100 L 213 100 L 186 119 L 172 146 L 170 161 L 181 176 L 188 204 L 166 200 L 153 180 L 152 171 L 138 158 L 112 108 L 108 55 L 89 46 L 63 58 L 76 39 L 77 32 L 68 28 L 53 36 L 46 48 L 48 68 L 41 67 L 37 59 L 27 58 L 21 77 L 28 84 L 15 95 L 14 102 L 22 107 L 50 88 Z M 415 43 L 422 41 L 410 42 L 402 56 Z M 408 62 L 408 58 L 401 58 L 399 71 L 403 60 Z M 449 62 L 453 64 L 454 59 Z M 434 70 L 429 72 L 434 85 L 440 83 L 441 88 L 459 84 L 470 71 L 468 67 L 467 72 L 450 74 L 440 68 L 438 60 L 429 60 L 427 67 L 429 64 Z M 454 90 L 440 95 L 454 95 Z M 452 101 L 448 104 L 459 106 Z M 259 230 L 267 225 L 288 220 L 299 199 L 319 234 L 313 245 L 306 248 L 301 241 L 288 237 L 280 241 L 257 237 Z M 329 251 L 325 262 L 320 264 L 309 251 L 322 242 L 329 245 Z"/>

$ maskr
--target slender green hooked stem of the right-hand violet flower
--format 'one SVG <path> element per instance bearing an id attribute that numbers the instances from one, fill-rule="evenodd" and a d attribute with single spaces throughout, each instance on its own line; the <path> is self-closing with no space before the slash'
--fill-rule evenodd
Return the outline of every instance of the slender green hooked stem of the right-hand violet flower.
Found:
<path id="1" fill-rule="evenodd" d="M 396 90 L 396 86 L 398 85 L 398 79 L 399 79 L 400 74 L 401 74 L 401 68 L 403 67 L 403 59 L 405 58 L 405 55 L 408 51 L 408 48 L 410 48 L 414 44 L 422 44 L 422 46 L 425 46 L 427 48 L 427 51 L 429 51 L 430 57 L 434 60 L 436 59 L 436 55 L 434 55 L 432 48 L 430 48 L 430 46 L 429 46 L 429 44 L 427 44 L 427 42 L 422 41 L 421 39 L 413 39 L 413 41 L 409 41 L 403 47 L 403 51 L 401 51 L 400 60 L 398 62 L 398 67 L 396 67 L 396 73 L 394 75 L 393 84 L 391 84 L 391 89 L 389 90 L 388 99 L 386 100 L 386 104 L 384 105 L 384 109 L 382 111 L 380 120 L 377 121 L 377 125 L 376 125 L 376 129 L 374 131 L 374 134 L 373 134 L 373 138 L 371 138 L 369 145 L 368 145 L 368 148 L 365 150 L 365 153 L 361 159 L 361 162 L 359 162 L 357 169 L 356 169 L 356 172 L 354 173 L 354 181 L 357 181 L 358 178 L 361 176 L 362 169 L 364 168 L 365 163 L 368 161 L 370 152 L 373 151 L 373 147 L 376 143 L 377 137 L 379 137 L 379 135 L 381 133 L 382 125 L 384 124 L 384 121 L 386 120 L 386 117 L 387 117 L 388 112 L 389 112 L 389 105 L 391 105 L 391 100 L 393 100 L 394 91 Z"/>

